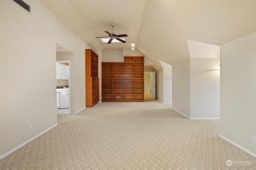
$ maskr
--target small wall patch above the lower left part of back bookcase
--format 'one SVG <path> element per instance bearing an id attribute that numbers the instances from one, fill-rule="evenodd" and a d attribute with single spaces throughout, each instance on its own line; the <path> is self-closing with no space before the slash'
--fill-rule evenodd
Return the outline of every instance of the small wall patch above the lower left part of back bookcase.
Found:
<path id="1" fill-rule="evenodd" d="M 103 50 L 102 62 L 124 62 L 123 50 Z"/>

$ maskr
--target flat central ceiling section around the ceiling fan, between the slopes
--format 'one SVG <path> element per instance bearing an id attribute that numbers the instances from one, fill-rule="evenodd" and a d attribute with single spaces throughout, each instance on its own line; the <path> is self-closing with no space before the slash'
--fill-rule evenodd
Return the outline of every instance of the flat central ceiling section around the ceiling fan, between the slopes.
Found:
<path id="1" fill-rule="evenodd" d="M 145 0 L 73 0 L 72 5 L 90 27 L 95 37 L 108 36 L 104 31 L 112 33 L 111 23 L 114 23 L 114 33 L 127 34 L 126 43 L 102 43 L 103 49 L 123 49 L 131 47 L 132 41 L 137 41 L 140 23 L 146 4 Z"/>

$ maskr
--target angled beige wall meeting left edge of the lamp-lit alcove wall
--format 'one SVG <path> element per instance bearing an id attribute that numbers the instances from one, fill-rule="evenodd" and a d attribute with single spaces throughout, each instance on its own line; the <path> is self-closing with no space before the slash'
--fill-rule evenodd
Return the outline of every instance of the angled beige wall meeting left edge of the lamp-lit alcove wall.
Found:
<path id="1" fill-rule="evenodd" d="M 172 108 L 190 117 L 190 59 L 172 65 Z"/>

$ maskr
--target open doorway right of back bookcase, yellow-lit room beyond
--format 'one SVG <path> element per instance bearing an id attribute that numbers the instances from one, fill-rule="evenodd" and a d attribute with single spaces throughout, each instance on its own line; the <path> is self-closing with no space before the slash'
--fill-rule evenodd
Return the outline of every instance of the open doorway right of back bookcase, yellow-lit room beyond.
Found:
<path id="1" fill-rule="evenodd" d="M 144 100 L 156 99 L 156 72 L 144 72 Z"/>

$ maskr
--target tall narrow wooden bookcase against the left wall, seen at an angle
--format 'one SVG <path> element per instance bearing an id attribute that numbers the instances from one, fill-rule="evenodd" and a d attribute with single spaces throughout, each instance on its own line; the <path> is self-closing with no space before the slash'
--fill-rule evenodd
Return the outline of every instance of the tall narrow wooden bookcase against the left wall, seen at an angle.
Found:
<path id="1" fill-rule="evenodd" d="M 98 55 L 92 49 L 86 49 L 86 107 L 92 107 L 100 101 L 98 65 Z"/>

